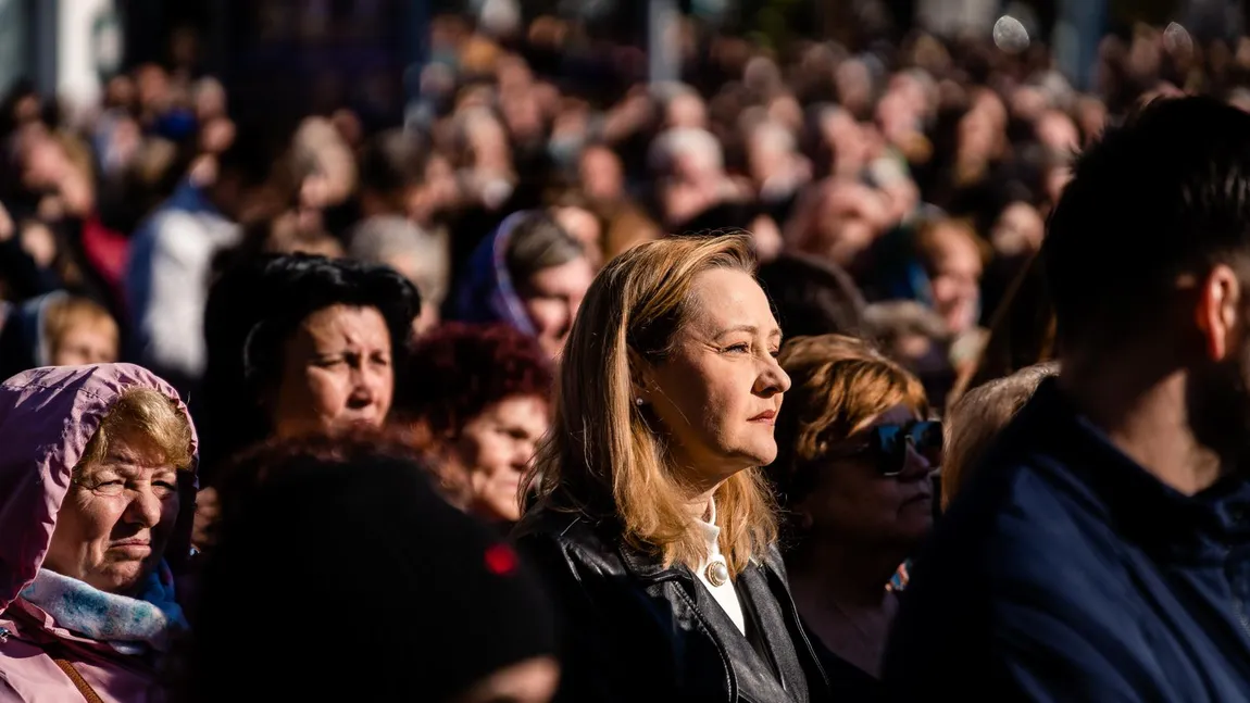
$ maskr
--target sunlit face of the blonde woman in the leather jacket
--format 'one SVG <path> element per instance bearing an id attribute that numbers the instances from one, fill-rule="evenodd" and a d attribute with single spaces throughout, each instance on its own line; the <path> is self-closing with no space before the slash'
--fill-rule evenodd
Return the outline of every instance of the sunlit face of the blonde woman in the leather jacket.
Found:
<path id="1" fill-rule="evenodd" d="M 716 483 L 776 458 L 772 436 L 790 377 L 778 365 L 781 328 L 750 275 L 730 268 L 695 278 L 691 312 L 666 358 L 636 392 L 660 420 L 676 463 Z"/>

